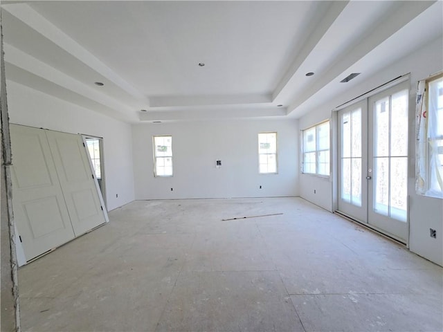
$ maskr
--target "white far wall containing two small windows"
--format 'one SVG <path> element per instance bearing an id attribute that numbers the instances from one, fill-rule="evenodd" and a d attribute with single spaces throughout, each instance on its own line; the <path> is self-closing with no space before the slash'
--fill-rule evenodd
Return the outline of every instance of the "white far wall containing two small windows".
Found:
<path id="1" fill-rule="evenodd" d="M 136 124 L 132 131 L 136 199 L 298 195 L 297 120 Z M 258 174 L 262 131 L 278 132 L 278 174 Z M 153 135 L 172 135 L 173 177 L 153 175 Z M 221 160 L 221 168 L 215 168 L 215 160 Z"/>

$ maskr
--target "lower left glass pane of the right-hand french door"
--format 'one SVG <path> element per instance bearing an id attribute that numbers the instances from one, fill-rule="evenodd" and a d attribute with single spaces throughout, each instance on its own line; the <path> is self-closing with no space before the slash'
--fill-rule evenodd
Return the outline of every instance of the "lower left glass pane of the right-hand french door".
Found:
<path id="1" fill-rule="evenodd" d="M 389 158 L 374 158 L 374 212 L 388 215 Z"/>

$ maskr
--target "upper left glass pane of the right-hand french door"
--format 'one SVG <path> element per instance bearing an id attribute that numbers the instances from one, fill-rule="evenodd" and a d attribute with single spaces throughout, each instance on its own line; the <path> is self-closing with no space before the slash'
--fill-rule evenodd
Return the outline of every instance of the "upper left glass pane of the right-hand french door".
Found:
<path id="1" fill-rule="evenodd" d="M 375 102 L 374 156 L 389 156 L 389 98 Z"/>

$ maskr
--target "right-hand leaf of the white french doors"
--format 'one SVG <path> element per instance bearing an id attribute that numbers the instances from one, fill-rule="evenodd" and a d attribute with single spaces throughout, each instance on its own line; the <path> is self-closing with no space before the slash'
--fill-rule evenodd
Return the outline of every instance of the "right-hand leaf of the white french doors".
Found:
<path id="1" fill-rule="evenodd" d="M 368 223 L 402 241 L 407 236 L 408 97 L 405 82 L 368 100 Z"/>

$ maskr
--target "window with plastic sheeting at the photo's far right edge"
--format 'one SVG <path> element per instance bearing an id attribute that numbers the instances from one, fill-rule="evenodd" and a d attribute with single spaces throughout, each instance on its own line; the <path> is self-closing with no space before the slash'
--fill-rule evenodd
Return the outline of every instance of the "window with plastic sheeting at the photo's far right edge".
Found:
<path id="1" fill-rule="evenodd" d="M 443 74 L 419 82 L 417 112 L 417 191 L 442 198 Z"/>

